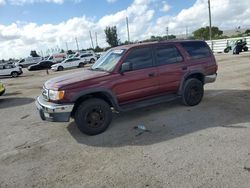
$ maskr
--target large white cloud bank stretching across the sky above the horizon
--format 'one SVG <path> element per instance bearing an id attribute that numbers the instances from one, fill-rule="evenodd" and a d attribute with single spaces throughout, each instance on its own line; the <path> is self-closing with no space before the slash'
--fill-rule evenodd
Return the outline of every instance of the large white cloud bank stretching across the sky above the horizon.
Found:
<path id="1" fill-rule="evenodd" d="M 1 0 L 0 0 L 1 1 Z M 249 0 L 211 1 L 212 24 L 220 29 L 233 29 L 237 26 L 250 26 Z M 104 29 L 106 26 L 117 26 L 118 37 L 127 40 L 126 16 L 129 18 L 131 40 L 142 40 L 151 35 L 165 35 L 166 27 L 170 34 L 184 34 L 186 27 L 189 32 L 208 25 L 207 0 L 197 0 L 193 6 L 183 9 L 174 16 L 156 17 L 158 10 L 155 5 L 162 5 L 161 0 L 134 0 L 124 10 L 106 15 L 99 20 L 88 17 L 75 17 L 59 24 L 43 24 L 16 22 L 10 25 L 0 24 L 0 59 L 10 57 L 25 57 L 30 50 L 46 52 L 47 49 L 76 49 L 75 37 L 80 48 L 91 46 L 89 31 L 98 34 L 101 47 L 107 46 Z M 159 7 L 159 6 L 158 6 Z M 95 41 L 95 40 L 94 40 Z"/>

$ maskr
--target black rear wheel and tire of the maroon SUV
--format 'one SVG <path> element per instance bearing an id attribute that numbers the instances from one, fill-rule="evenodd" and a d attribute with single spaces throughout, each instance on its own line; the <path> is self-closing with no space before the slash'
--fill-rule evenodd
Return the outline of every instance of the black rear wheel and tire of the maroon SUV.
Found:
<path id="1" fill-rule="evenodd" d="M 199 104 L 203 98 L 203 83 L 195 78 L 185 81 L 182 93 L 182 101 L 187 106 L 195 106 Z"/>

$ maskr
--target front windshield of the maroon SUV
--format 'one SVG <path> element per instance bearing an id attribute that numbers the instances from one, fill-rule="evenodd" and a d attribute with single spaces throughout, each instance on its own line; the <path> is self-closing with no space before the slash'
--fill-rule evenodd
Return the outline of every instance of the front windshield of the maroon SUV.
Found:
<path id="1" fill-rule="evenodd" d="M 103 71 L 112 71 L 119 60 L 121 59 L 122 55 L 124 54 L 125 50 L 109 50 L 105 52 L 91 67 L 92 70 L 103 70 Z"/>

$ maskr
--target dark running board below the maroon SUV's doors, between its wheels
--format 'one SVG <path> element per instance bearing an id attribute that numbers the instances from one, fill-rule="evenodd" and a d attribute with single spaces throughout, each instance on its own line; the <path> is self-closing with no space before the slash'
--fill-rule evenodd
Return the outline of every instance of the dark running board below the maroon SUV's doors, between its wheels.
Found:
<path id="1" fill-rule="evenodd" d="M 146 100 L 139 101 L 139 102 L 133 102 L 133 103 L 121 105 L 119 111 L 124 112 L 124 111 L 129 111 L 129 110 L 133 110 L 137 108 L 143 108 L 143 107 L 152 106 L 152 105 L 156 105 L 160 103 L 170 102 L 178 98 L 180 98 L 180 96 L 176 94 L 154 97 L 154 98 L 146 99 Z"/>

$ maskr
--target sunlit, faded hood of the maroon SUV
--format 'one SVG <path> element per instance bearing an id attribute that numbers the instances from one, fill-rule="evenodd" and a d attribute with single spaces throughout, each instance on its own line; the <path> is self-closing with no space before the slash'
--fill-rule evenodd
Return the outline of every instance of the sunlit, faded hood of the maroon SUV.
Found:
<path id="1" fill-rule="evenodd" d="M 66 85 L 71 85 L 77 82 L 90 80 L 93 78 L 99 78 L 99 77 L 106 76 L 109 74 L 110 73 L 108 72 L 84 69 L 79 72 L 52 78 L 48 80 L 47 82 L 45 82 L 45 87 L 47 89 L 59 90 L 61 87 L 64 87 Z"/>

